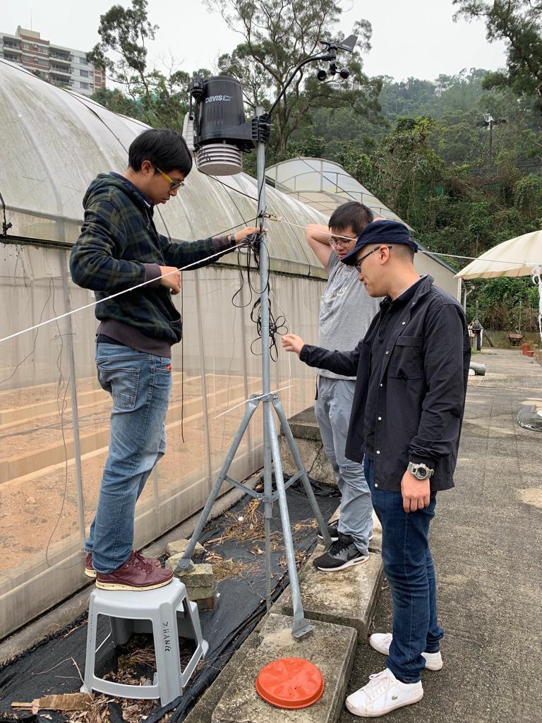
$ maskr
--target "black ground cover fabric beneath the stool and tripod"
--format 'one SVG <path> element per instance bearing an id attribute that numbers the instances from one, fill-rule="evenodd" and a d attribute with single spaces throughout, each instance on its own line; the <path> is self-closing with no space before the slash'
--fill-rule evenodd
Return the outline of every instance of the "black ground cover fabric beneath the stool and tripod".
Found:
<path id="1" fill-rule="evenodd" d="M 319 507 L 324 519 L 330 517 L 337 508 L 339 499 L 336 490 L 320 487 L 313 483 Z M 316 544 L 317 529 L 311 526 L 312 512 L 309 501 L 300 484 L 294 484 L 287 492 L 288 511 L 291 528 L 293 529 L 294 548 L 296 556 L 306 557 L 311 554 Z M 223 539 L 221 542 L 209 544 L 224 535 L 239 517 L 244 517 L 251 497 L 245 495 L 227 513 L 220 515 L 205 527 L 199 542 L 206 544 L 207 552 L 214 552 L 224 560 L 231 558 L 234 562 L 246 565 L 241 577 L 225 578 L 217 583 L 215 607 L 212 611 L 201 612 L 199 617 L 202 625 L 203 637 L 209 643 L 210 649 L 205 662 L 197 669 L 189 682 L 188 688 L 177 701 L 173 701 L 166 709 L 155 708 L 147 717 L 147 723 L 160 720 L 166 710 L 172 710 L 171 723 L 180 723 L 189 710 L 194 706 L 197 698 L 212 683 L 233 652 L 243 643 L 251 630 L 257 625 L 265 612 L 265 570 L 264 539 L 251 539 L 249 542 L 240 542 L 238 539 Z M 272 590 L 276 599 L 285 586 L 288 585 L 288 575 L 285 567 L 285 552 L 282 544 L 280 517 L 278 503 L 273 505 L 274 516 L 271 523 L 273 541 L 272 551 Z M 259 512 L 262 513 L 262 505 Z M 210 560 L 212 562 L 212 560 Z M 87 616 L 82 615 L 72 625 L 59 630 L 58 633 L 39 643 L 30 651 L 25 652 L 12 662 L 0 668 L 0 722 L 22 720 L 27 723 L 43 723 L 43 716 L 33 716 L 30 712 L 13 711 L 12 701 L 32 701 L 34 698 L 54 693 L 76 693 L 81 685 L 79 672 L 85 667 L 85 649 L 87 636 Z M 101 642 L 108 635 L 108 624 L 101 623 L 98 641 Z M 99 644 L 99 643 L 98 643 Z M 120 652 L 123 652 L 122 650 Z M 119 664 L 119 649 L 115 650 L 109 641 L 96 656 L 96 669 L 99 675 L 113 670 L 116 672 Z M 152 678 L 152 668 L 145 663 L 137 666 L 138 675 Z M 113 701 L 113 699 L 111 699 Z M 120 706 L 110 703 L 108 713 L 111 723 L 121 721 Z M 53 723 L 64 722 L 68 714 L 47 711 Z"/>

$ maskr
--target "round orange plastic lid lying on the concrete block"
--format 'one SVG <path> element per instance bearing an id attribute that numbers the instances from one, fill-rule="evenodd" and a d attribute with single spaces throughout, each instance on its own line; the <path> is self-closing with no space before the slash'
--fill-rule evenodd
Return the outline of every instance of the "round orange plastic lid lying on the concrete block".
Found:
<path id="1" fill-rule="evenodd" d="M 322 673 L 303 658 L 274 660 L 256 679 L 259 696 L 277 708 L 307 708 L 322 698 L 324 687 Z"/>

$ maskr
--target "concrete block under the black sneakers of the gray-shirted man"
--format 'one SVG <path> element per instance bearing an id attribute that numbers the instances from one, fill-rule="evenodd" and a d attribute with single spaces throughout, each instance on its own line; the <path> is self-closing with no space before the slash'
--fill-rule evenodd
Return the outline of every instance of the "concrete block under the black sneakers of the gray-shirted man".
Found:
<path id="1" fill-rule="evenodd" d="M 301 572 L 299 586 L 305 617 L 348 625 L 358 631 L 359 642 L 366 643 L 382 580 L 382 558 L 378 553 L 369 552 L 369 560 L 361 565 L 324 573 L 312 564 L 323 552 L 324 547 L 317 545 Z M 281 598 L 283 613 L 292 615 L 290 590 Z"/>

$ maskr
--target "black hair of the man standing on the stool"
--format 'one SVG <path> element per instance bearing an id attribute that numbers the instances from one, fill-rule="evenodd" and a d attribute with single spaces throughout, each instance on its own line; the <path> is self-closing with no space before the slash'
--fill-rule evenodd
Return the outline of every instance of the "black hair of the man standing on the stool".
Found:
<path id="1" fill-rule="evenodd" d="M 130 168 L 141 171 L 143 161 L 150 161 L 164 173 L 181 171 L 188 176 L 192 170 L 192 155 L 186 140 L 171 128 L 149 128 L 132 141 L 128 149 Z"/>

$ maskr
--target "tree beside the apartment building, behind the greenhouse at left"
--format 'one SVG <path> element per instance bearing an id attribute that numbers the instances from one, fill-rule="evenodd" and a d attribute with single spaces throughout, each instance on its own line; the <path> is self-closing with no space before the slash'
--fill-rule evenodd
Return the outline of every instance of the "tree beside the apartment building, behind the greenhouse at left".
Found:
<path id="1" fill-rule="evenodd" d="M 173 60 L 167 74 L 147 67 L 146 43 L 155 39 L 157 30 L 158 25 L 152 25 L 147 17 L 147 0 L 132 0 L 132 6 L 127 8 L 113 5 L 100 16 L 101 39 L 87 57 L 123 87 L 132 101 L 129 108 L 137 109 L 139 119 L 152 126 L 182 130 L 190 75 L 174 69 Z M 208 77 L 210 73 L 202 69 L 198 74 Z M 119 104 L 123 105 L 114 91 L 95 99 L 115 111 Z"/>

